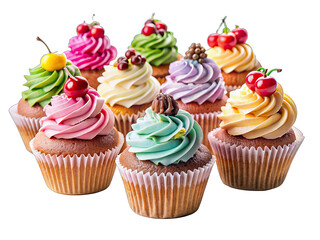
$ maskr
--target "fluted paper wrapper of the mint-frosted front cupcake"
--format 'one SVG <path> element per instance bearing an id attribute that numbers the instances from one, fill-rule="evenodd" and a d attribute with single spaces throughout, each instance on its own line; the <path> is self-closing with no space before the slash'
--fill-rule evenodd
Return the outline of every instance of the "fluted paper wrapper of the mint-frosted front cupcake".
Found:
<path id="1" fill-rule="evenodd" d="M 197 211 L 214 162 L 213 158 L 187 173 L 150 175 L 127 169 L 116 160 L 131 209 L 151 218 L 176 218 Z"/>

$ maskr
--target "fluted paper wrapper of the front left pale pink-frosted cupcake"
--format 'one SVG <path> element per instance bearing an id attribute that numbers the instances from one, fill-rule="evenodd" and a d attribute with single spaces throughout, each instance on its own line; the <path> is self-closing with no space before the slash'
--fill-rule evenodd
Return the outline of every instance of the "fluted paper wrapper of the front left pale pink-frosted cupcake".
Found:
<path id="1" fill-rule="evenodd" d="M 116 147 L 80 156 L 41 153 L 33 148 L 33 140 L 30 146 L 47 186 L 57 193 L 79 195 L 99 192 L 110 185 L 116 167 L 115 159 L 123 141 L 123 135 L 119 133 Z"/>

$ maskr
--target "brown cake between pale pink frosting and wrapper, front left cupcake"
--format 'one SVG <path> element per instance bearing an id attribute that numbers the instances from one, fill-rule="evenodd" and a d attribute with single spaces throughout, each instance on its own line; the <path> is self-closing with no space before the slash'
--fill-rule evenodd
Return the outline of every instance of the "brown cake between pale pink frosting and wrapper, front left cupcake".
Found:
<path id="1" fill-rule="evenodd" d="M 106 136 L 96 136 L 91 140 L 48 138 L 43 132 L 38 132 L 33 141 L 35 150 L 51 155 L 78 155 L 105 152 L 118 145 L 119 134 L 114 128 Z"/>

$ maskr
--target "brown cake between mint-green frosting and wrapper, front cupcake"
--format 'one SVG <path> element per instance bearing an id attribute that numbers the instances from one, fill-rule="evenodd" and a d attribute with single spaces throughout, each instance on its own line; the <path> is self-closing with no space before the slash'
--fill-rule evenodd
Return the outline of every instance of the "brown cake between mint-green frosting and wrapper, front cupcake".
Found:
<path id="1" fill-rule="evenodd" d="M 169 166 L 163 166 L 162 164 L 156 165 L 151 161 L 140 161 L 135 153 L 129 152 L 129 147 L 127 147 L 120 155 L 119 161 L 121 165 L 127 169 L 132 169 L 133 171 L 147 173 L 150 175 L 157 173 L 175 173 L 175 172 L 187 172 L 188 170 L 197 169 L 203 167 L 210 162 L 212 155 L 207 147 L 201 145 L 199 150 L 190 158 L 186 163 L 180 162 L 178 164 L 171 164 Z"/>

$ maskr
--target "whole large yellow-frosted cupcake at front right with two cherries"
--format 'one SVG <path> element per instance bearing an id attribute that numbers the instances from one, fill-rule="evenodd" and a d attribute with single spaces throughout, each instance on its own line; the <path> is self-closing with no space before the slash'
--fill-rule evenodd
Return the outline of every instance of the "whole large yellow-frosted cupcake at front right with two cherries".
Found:
<path id="1" fill-rule="evenodd" d="M 297 108 L 266 69 L 232 91 L 209 133 L 224 184 L 244 190 L 280 186 L 304 136 L 293 124 Z"/>

